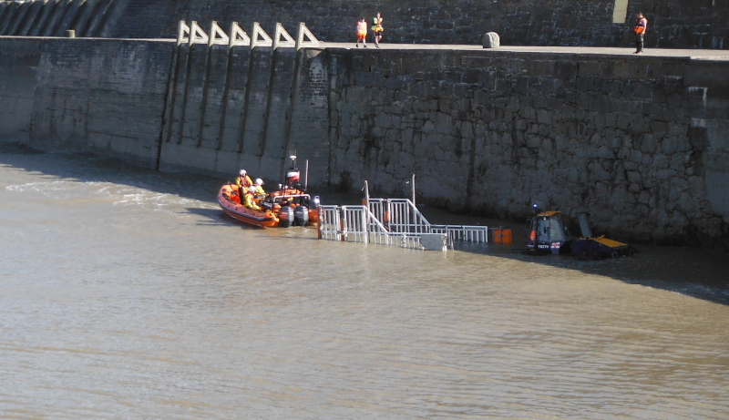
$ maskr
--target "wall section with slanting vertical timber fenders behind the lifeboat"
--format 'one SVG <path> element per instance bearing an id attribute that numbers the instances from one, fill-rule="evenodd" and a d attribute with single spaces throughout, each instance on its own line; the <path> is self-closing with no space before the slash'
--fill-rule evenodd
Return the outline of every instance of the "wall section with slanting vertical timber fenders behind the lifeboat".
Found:
<path id="1" fill-rule="evenodd" d="M 245 168 L 280 180 L 296 153 L 310 161 L 310 179 L 326 184 L 329 103 L 321 50 L 183 45 L 174 60 L 159 169 L 230 175 Z"/>

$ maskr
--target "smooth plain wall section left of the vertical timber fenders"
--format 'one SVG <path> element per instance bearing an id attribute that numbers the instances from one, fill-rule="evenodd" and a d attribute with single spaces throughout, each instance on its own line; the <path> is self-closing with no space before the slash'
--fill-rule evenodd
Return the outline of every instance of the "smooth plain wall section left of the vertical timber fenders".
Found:
<path id="1" fill-rule="evenodd" d="M 0 39 L 0 137 L 156 167 L 173 45 Z"/>

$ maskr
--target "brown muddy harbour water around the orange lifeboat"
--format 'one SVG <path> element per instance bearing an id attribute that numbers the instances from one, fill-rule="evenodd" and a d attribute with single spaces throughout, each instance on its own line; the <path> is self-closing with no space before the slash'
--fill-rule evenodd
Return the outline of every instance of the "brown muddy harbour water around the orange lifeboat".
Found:
<path id="1" fill-rule="evenodd" d="M 729 418 L 725 253 L 317 241 L 220 183 L 0 149 L 0 418 Z"/>

